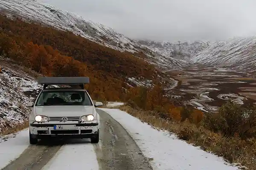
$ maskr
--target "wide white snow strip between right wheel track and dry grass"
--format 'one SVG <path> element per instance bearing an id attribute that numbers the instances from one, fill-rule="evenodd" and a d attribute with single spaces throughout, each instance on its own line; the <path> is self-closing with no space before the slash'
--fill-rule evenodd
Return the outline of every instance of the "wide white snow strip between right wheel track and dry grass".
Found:
<path id="1" fill-rule="evenodd" d="M 151 165 L 154 170 L 238 170 L 227 165 L 221 157 L 187 144 L 167 131 L 156 130 L 124 111 L 100 109 L 130 133 L 145 156 L 153 158 Z"/>

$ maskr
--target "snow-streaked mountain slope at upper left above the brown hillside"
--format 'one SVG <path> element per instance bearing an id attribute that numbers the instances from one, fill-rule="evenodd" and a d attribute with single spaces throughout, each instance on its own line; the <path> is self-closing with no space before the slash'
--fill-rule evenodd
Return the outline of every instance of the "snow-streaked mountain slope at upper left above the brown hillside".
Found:
<path id="1" fill-rule="evenodd" d="M 143 52 L 145 60 L 159 66 L 163 70 L 180 68 L 189 65 L 183 58 L 174 58 L 166 55 L 162 48 L 141 44 L 117 33 L 108 26 L 86 20 L 69 11 L 63 11 L 54 6 L 39 3 L 35 0 L 0 0 L 0 12 L 9 17 L 22 17 L 22 20 L 36 21 L 61 30 L 72 31 L 82 37 L 108 46 L 119 51 L 129 51 L 135 54 Z M 197 46 L 197 45 L 195 45 Z M 173 51 L 172 45 L 167 51 Z M 191 47 L 190 51 L 194 51 Z M 189 49 L 189 48 L 187 48 Z M 166 49 L 165 49 L 166 50 Z"/>

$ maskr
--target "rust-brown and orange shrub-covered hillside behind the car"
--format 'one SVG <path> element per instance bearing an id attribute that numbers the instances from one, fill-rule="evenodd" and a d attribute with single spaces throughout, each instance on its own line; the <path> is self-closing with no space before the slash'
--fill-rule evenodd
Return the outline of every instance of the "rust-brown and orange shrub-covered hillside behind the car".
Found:
<path id="1" fill-rule="evenodd" d="M 93 99 L 123 100 L 126 77 L 157 77 L 154 66 L 68 31 L 0 16 L 0 55 L 45 76 L 88 76 Z"/>

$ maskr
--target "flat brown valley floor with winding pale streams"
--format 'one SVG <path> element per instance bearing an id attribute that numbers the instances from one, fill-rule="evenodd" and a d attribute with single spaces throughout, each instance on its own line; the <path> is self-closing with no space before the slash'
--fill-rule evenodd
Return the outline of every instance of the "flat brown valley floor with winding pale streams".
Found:
<path id="1" fill-rule="evenodd" d="M 256 77 L 254 74 L 224 68 L 195 65 L 169 71 L 180 81 L 169 95 L 178 97 L 203 111 L 216 112 L 227 100 L 256 104 Z"/>

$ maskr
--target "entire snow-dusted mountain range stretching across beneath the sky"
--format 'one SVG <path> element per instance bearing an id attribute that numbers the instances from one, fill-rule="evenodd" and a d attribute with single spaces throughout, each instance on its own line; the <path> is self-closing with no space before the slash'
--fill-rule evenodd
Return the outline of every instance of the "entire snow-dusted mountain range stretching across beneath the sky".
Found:
<path id="1" fill-rule="evenodd" d="M 129 51 L 163 71 L 207 64 L 226 66 L 236 70 L 255 71 L 256 37 L 234 38 L 222 42 L 154 42 L 132 40 L 108 26 L 86 20 L 77 14 L 63 11 L 35 0 L 0 0 L 0 12 L 9 17 L 22 17 L 61 30 L 72 31 L 82 37 L 119 51 Z"/>

